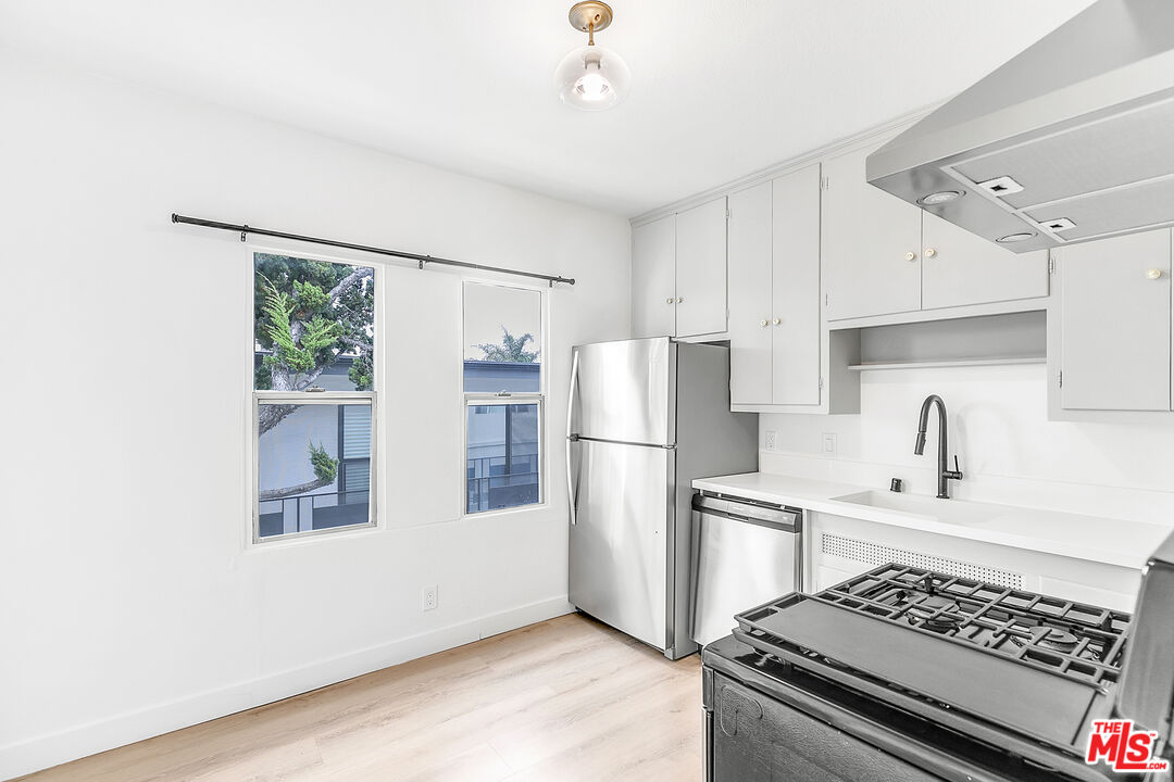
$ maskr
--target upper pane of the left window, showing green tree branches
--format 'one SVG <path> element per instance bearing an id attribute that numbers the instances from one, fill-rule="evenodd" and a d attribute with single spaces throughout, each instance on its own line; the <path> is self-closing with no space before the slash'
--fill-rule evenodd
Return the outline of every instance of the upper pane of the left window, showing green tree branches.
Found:
<path id="1" fill-rule="evenodd" d="M 375 270 L 257 252 L 254 387 L 371 390 Z"/>

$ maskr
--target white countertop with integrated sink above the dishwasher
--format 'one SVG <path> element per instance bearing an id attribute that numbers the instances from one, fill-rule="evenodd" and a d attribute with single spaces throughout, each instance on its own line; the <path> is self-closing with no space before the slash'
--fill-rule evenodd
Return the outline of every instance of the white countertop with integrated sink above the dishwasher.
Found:
<path id="1" fill-rule="evenodd" d="M 772 472 L 699 478 L 693 488 L 1135 570 L 1172 531 L 1161 524 L 937 499 Z M 849 499 L 852 495 L 857 502 Z"/>

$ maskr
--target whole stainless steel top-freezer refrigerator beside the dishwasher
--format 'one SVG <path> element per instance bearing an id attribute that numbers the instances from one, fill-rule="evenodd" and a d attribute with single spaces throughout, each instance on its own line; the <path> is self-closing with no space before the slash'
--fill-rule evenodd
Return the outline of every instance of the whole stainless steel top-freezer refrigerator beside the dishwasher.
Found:
<path id="1" fill-rule="evenodd" d="M 693 480 L 756 470 L 758 416 L 730 413 L 726 347 L 580 345 L 571 367 L 571 603 L 670 659 L 690 654 Z"/>

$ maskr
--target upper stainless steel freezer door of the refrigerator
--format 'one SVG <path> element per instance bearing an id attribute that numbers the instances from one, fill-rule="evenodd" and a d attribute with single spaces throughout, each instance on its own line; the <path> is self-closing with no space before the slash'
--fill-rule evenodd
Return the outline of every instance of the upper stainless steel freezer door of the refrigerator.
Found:
<path id="1" fill-rule="evenodd" d="M 668 338 L 580 345 L 568 434 L 592 440 L 676 442 L 676 353 Z"/>

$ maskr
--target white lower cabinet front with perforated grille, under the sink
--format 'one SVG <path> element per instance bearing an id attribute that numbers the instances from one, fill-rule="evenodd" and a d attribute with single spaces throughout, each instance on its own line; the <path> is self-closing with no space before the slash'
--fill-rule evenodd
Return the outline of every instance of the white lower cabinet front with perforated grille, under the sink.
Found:
<path id="1" fill-rule="evenodd" d="M 808 514 L 805 591 L 889 562 L 1133 612 L 1141 572 L 1027 549 L 909 530 L 830 514 Z"/>

